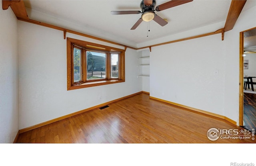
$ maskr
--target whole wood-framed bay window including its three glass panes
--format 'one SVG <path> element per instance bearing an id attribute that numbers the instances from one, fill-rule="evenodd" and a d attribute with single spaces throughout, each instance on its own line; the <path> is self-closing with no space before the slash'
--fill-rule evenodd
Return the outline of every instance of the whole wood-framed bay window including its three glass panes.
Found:
<path id="1" fill-rule="evenodd" d="M 68 90 L 124 82 L 124 50 L 67 38 Z"/>

